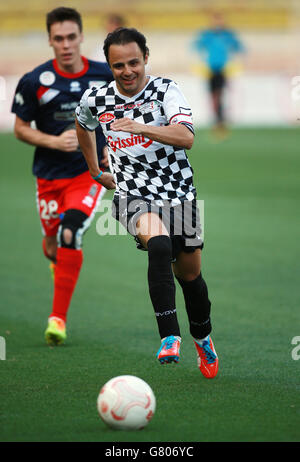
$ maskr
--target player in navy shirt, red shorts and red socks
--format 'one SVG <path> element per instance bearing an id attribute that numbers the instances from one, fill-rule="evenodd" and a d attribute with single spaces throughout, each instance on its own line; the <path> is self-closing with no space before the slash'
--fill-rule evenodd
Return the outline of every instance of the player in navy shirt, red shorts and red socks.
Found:
<path id="1" fill-rule="evenodd" d="M 82 236 L 89 228 L 105 188 L 94 181 L 80 152 L 74 111 L 83 92 L 112 80 L 106 63 L 80 54 L 80 14 L 56 8 L 47 15 L 51 59 L 18 83 L 12 112 L 16 137 L 36 146 L 33 174 L 43 233 L 43 251 L 52 262 L 54 294 L 45 332 L 49 344 L 66 339 L 66 319 L 81 270 Z M 35 121 L 36 127 L 31 126 Z M 105 138 L 97 132 L 97 161 L 107 166 Z"/>

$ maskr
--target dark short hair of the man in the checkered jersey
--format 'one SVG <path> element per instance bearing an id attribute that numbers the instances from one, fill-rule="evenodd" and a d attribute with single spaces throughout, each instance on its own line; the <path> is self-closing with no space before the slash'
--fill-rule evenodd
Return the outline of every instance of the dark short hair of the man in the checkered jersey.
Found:
<path id="1" fill-rule="evenodd" d="M 108 64 L 108 52 L 111 45 L 126 45 L 127 43 L 132 42 L 136 42 L 138 44 L 144 58 L 149 54 L 149 48 L 146 45 L 146 37 L 134 28 L 128 29 L 127 27 L 119 27 L 118 29 L 108 34 L 104 40 L 103 46 L 103 51 Z"/>

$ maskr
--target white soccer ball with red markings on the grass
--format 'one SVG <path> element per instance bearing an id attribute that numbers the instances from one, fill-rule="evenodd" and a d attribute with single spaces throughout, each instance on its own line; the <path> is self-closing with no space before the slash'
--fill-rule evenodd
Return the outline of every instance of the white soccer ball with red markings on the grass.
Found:
<path id="1" fill-rule="evenodd" d="M 141 430 L 155 412 L 156 400 L 150 386 L 133 375 L 110 379 L 100 390 L 97 409 L 101 419 L 117 430 Z"/>

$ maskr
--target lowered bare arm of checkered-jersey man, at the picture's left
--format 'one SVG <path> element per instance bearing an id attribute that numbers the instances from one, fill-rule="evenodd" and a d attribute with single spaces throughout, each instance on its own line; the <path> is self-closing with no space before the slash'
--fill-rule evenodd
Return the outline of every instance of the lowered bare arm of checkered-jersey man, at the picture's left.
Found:
<path id="1" fill-rule="evenodd" d="M 75 124 L 82 154 L 84 155 L 91 176 L 96 177 L 100 173 L 100 167 L 97 156 L 95 132 L 85 130 L 81 127 L 81 125 L 79 125 L 77 120 L 75 120 Z M 114 177 L 111 173 L 102 173 L 101 177 L 96 181 L 102 184 L 106 189 L 115 189 L 116 187 Z"/>

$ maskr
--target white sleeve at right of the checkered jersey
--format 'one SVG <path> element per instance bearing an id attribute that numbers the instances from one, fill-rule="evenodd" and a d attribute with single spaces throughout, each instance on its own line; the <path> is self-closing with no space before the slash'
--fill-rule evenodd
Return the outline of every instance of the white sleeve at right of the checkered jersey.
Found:
<path id="1" fill-rule="evenodd" d="M 163 109 L 169 125 L 183 124 L 194 134 L 192 110 L 175 82 L 169 84 Z"/>

